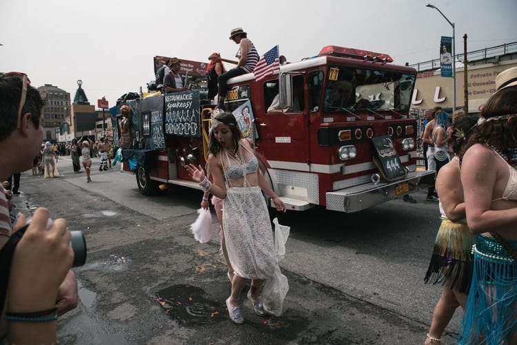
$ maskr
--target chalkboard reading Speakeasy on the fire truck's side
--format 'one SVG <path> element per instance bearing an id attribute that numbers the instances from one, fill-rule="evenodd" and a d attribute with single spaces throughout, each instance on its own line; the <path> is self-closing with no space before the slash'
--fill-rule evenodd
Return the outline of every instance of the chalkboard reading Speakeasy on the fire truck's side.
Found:
<path id="1" fill-rule="evenodd" d="M 165 94 L 165 134 L 201 136 L 199 92 Z"/>

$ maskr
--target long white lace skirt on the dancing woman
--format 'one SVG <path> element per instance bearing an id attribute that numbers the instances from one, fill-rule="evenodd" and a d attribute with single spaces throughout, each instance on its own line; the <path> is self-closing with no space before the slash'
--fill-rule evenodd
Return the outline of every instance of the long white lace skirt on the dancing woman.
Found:
<path id="1" fill-rule="evenodd" d="M 223 231 L 235 274 L 264 280 L 264 309 L 280 316 L 289 283 L 276 260 L 270 217 L 260 187 L 226 189 Z"/>

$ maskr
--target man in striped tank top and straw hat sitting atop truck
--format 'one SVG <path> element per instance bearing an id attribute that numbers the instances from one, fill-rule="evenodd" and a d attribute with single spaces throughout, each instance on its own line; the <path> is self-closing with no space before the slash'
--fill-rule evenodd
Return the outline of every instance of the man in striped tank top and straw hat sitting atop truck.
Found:
<path id="1" fill-rule="evenodd" d="M 252 41 L 247 39 L 247 32 L 244 32 L 243 28 L 234 28 L 230 32 L 230 39 L 239 45 L 239 52 L 236 54 L 239 62 L 235 68 L 221 74 L 217 80 L 219 83 L 219 103 L 217 107 L 221 110 L 225 110 L 226 82 L 228 79 L 253 72 L 260 57 Z"/>

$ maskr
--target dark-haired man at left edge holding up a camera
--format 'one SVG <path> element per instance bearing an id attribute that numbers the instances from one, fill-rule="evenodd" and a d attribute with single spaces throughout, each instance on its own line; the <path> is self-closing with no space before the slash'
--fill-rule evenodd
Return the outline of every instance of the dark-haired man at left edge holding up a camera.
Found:
<path id="1" fill-rule="evenodd" d="M 32 167 L 43 140 L 38 90 L 30 86 L 26 74 L 0 73 L 0 180 Z M 13 231 L 26 224 L 19 213 L 11 229 L 7 202 L 0 187 L 0 248 Z M 0 320 L 0 343 L 54 343 L 57 315 L 77 306 L 77 280 L 70 267 L 70 231 L 63 219 L 50 221 L 48 209 L 34 212 L 32 222 L 19 240 L 7 276 L 8 260 L 1 260 L 0 284 L 8 282 L 3 304 L 6 317 Z M 3 262 L 2 262 L 3 261 Z M 5 291 L 2 289 L 3 293 Z M 1 311 L 0 311 L 1 313 Z M 6 320 L 8 320 L 6 324 Z"/>

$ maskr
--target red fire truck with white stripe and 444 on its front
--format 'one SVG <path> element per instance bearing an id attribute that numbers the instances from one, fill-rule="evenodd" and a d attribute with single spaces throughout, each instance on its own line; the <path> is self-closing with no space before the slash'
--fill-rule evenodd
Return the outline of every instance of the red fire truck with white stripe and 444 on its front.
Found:
<path id="1" fill-rule="evenodd" d="M 254 140 L 260 169 L 290 210 L 356 212 L 428 187 L 416 169 L 412 67 L 387 54 L 327 46 L 256 81 L 228 81 L 225 105 Z M 268 114 L 279 95 L 281 112 Z M 199 189 L 185 170 L 205 165 L 210 112 L 203 89 L 131 101 L 133 145 L 124 169 L 142 194 L 160 185 Z M 269 200 L 268 200 L 269 201 Z"/>

